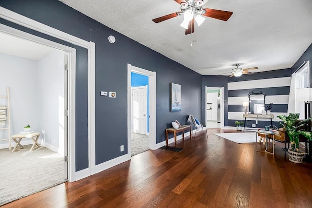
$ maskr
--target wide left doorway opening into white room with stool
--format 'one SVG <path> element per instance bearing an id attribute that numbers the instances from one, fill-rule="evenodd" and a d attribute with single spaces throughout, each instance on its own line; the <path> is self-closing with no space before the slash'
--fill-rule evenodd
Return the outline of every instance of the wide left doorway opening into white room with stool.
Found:
<path id="1" fill-rule="evenodd" d="M 0 43 L 3 75 L 0 95 L 9 87 L 11 97 L 10 119 L 0 127 L 7 129 L 8 122 L 11 123 L 10 131 L 0 131 L 0 139 L 6 138 L 0 141 L 0 205 L 3 205 L 67 180 L 64 164 L 67 95 L 64 51 L 8 34 L 0 35 L 6 42 Z M 6 50 L 6 45 L 10 50 Z M 0 106 L 8 106 L 8 101 L 0 100 Z M 9 117 L 7 112 L 6 115 Z M 40 134 L 41 147 L 29 151 L 33 140 L 23 138 L 20 143 L 24 148 L 12 152 L 9 138 L 24 132 L 23 127 L 28 124 L 31 131 Z M 12 149 L 15 145 L 12 140 Z"/>

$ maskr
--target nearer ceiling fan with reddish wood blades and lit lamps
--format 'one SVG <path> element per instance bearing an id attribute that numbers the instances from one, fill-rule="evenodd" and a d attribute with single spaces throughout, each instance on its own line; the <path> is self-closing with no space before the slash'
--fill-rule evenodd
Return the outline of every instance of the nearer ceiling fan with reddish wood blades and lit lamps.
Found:
<path id="1" fill-rule="evenodd" d="M 197 25 L 200 26 L 205 20 L 203 16 L 227 21 L 233 14 L 233 12 L 228 11 L 202 8 L 202 5 L 204 4 L 203 0 L 175 1 L 181 5 L 181 12 L 175 12 L 169 15 L 165 15 L 160 18 L 153 19 L 153 21 L 158 23 L 167 19 L 183 15 L 184 20 L 180 24 L 180 26 L 186 29 L 185 35 L 194 33 L 194 22 L 196 21 Z"/>

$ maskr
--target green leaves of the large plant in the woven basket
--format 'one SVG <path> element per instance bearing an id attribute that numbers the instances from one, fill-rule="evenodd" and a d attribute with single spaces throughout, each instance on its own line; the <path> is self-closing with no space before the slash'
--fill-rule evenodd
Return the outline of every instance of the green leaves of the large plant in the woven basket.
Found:
<path id="1" fill-rule="evenodd" d="M 289 141 L 292 145 L 292 151 L 299 152 L 299 135 L 303 135 L 309 141 L 312 141 L 312 133 L 305 131 L 303 128 L 307 125 L 307 122 L 312 119 L 311 117 L 304 119 L 297 124 L 296 122 L 299 119 L 299 113 L 290 113 L 288 116 L 278 115 L 277 117 L 283 121 L 283 123 L 279 123 L 286 129 Z"/>

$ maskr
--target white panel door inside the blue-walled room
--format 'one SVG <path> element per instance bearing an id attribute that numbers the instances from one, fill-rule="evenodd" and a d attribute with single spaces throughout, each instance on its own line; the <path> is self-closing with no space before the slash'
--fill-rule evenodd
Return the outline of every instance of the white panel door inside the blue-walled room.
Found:
<path id="1" fill-rule="evenodd" d="M 147 86 L 133 87 L 133 132 L 146 134 L 147 130 Z"/>

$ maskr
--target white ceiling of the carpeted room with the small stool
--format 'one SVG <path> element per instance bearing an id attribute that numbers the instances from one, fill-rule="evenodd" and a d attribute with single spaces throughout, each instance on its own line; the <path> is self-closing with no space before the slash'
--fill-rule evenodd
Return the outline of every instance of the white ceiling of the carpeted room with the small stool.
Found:
<path id="1" fill-rule="evenodd" d="M 53 50 L 56 49 L 23 38 L 0 33 L 1 54 L 39 60 Z"/>

